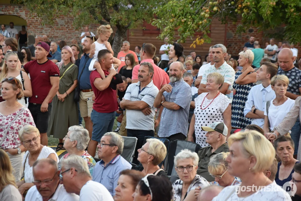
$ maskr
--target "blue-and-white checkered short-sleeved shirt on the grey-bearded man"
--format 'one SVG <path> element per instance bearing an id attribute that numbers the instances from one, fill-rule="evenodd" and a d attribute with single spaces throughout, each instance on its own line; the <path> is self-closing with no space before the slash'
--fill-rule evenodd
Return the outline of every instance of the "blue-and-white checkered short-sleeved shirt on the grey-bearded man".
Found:
<path id="1" fill-rule="evenodd" d="M 174 102 L 180 106 L 178 110 L 163 108 L 161 114 L 159 137 L 169 137 L 176 133 L 187 136 L 188 118 L 191 102 L 191 87 L 183 80 L 169 83 L 172 86 L 171 93 L 163 93 L 167 102 Z"/>

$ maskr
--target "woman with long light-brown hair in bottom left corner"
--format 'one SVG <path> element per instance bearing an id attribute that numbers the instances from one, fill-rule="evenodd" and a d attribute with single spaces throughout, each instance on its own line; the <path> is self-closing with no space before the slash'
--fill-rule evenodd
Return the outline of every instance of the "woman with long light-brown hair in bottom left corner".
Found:
<path id="1" fill-rule="evenodd" d="M 22 201 L 15 177 L 12 173 L 13 167 L 7 153 L 0 149 L 0 200 L 1 201 Z"/>

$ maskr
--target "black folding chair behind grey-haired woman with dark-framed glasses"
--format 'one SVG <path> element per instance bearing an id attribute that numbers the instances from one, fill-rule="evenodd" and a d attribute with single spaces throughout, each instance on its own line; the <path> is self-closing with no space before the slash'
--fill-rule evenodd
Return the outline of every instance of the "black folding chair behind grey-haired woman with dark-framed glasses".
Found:
<path id="1" fill-rule="evenodd" d="M 189 149 L 192 152 L 198 153 L 201 149 L 201 146 L 197 143 L 185 141 L 185 140 L 175 140 L 170 143 L 169 152 L 167 157 L 168 167 L 167 167 L 167 175 L 172 176 L 176 175 L 174 158 L 180 151 L 183 149 Z"/>

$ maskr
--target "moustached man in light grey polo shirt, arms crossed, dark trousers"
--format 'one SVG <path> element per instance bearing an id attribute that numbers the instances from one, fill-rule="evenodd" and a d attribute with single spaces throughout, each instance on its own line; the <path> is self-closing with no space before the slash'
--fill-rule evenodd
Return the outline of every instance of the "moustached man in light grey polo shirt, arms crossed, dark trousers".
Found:
<path id="1" fill-rule="evenodd" d="M 154 137 L 156 108 L 154 100 L 159 90 L 153 83 L 154 67 L 149 62 L 140 64 L 138 70 L 138 83 L 129 85 L 120 102 L 120 107 L 126 111 L 126 129 L 128 137 L 137 137 L 138 142 L 135 149 L 134 164 L 139 164 L 138 149 L 143 145 L 145 136 Z"/>

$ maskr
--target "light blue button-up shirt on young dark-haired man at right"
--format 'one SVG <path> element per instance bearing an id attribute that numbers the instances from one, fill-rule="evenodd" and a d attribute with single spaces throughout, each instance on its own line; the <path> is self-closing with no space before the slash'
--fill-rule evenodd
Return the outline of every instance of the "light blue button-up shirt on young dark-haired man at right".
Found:
<path id="1" fill-rule="evenodd" d="M 248 112 L 251 111 L 253 105 L 255 105 L 256 109 L 265 111 L 265 103 L 275 98 L 275 91 L 272 90 L 271 85 L 267 86 L 266 88 L 264 88 L 262 84 L 253 86 L 250 90 L 248 100 L 244 108 L 244 116 L 246 116 Z M 252 124 L 263 128 L 264 119 L 253 119 Z"/>

